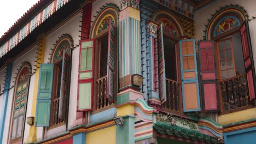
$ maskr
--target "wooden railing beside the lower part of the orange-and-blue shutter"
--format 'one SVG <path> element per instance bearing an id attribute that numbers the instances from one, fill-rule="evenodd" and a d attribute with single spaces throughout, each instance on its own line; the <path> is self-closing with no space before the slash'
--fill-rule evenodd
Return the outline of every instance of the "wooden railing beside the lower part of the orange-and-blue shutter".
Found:
<path id="1" fill-rule="evenodd" d="M 166 102 L 162 105 L 163 108 L 180 111 L 179 110 L 179 87 L 181 84 L 177 81 L 166 79 Z"/>

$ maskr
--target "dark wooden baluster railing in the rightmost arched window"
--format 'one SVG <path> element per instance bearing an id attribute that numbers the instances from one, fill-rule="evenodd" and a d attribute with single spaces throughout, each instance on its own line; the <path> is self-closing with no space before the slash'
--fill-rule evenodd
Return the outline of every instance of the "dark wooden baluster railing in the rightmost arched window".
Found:
<path id="1" fill-rule="evenodd" d="M 220 81 L 219 84 L 222 89 L 224 110 L 249 105 L 249 92 L 245 74 Z"/>

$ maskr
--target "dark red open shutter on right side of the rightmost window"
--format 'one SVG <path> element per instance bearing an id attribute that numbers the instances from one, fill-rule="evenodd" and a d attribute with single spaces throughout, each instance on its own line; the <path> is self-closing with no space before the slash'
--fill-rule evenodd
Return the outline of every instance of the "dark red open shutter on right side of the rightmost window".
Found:
<path id="1" fill-rule="evenodd" d="M 247 84 L 249 89 L 250 100 L 255 99 L 255 69 L 253 62 L 252 44 L 249 34 L 248 22 L 245 21 L 240 27 L 242 47 L 243 47 L 243 58 L 245 60 Z"/>

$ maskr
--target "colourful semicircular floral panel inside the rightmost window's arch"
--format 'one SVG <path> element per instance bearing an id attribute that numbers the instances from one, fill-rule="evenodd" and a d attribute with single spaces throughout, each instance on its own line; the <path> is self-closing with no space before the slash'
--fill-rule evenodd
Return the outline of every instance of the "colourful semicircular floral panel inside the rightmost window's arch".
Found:
<path id="1" fill-rule="evenodd" d="M 240 25 L 240 21 L 235 16 L 223 17 L 223 19 L 218 22 L 214 29 L 214 37 Z"/>

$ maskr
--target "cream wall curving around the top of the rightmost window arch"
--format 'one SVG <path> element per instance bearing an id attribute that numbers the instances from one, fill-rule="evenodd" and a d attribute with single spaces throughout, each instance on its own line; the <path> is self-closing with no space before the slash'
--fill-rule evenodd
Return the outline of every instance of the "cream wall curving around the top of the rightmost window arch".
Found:
<path id="1" fill-rule="evenodd" d="M 255 11 L 255 1 L 254 0 L 247 0 L 247 1 L 239 1 L 239 0 L 218 0 L 215 1 L 206 7 L 203 7 L 200 10 L 197 10 L 195 13 L 195 33 L 196 33 L 196 40 L 203 39 L 205 31 L 205 25 L 207 25 L 208 21 L 207 19 L 211 19 L 211 14 L 215 14 L 216 11 L 218 10 L 219 7 L 223 7 L 225 5 L 230 5 L 230 4 L 238 4 L 241 7 L 243 7 L 248 15 L 249 19 L 252 18 L 252 16 L 256 16 L 256 11 Z M 253 58 L 256 58 L 256 20 L 249 21 L 249 29 L 250 29 L 250 34 L 251 34 L 251 40 L 252 40 L 252 47 L 253 47 Z M 255 67 L 255 65 L 254 65 Z"/>

